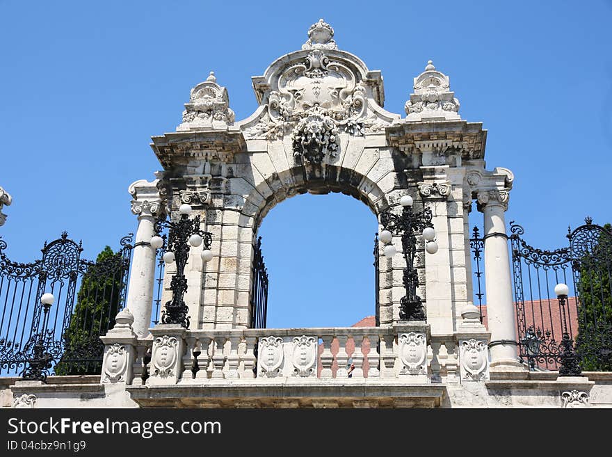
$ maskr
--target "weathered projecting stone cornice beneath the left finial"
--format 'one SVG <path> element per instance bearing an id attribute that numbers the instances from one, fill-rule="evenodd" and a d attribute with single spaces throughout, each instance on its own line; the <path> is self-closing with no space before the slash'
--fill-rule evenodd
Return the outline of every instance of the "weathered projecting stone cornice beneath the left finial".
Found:
<path id="1" fill-rule="evenodd" d="M 231 163 L 234 154 L 246 150 L 244 136 L 238 130 L 177 132 L 151 139 L 151 147 L 166 169 L 194 159 Z"/>

